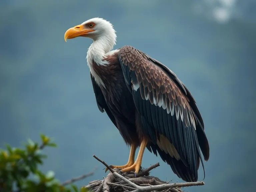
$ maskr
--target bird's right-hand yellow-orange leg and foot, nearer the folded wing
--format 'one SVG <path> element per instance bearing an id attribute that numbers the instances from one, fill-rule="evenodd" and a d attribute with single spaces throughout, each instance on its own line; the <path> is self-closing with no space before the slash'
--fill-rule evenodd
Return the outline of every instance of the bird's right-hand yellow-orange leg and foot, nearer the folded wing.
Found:
<path id="1" fill-rule="evenodd" d="M 121 169 L 121 171 L 120 171 L 121 173 L 134 171 L 135 172 L 135 177 L 137 177 L 138 172 L 140 170 L 141 163 L 142 163 L 143 153 L 144 153 L 144 150 L 146 148 L 147 143 L 148 143 L 147 139 L 142 140 L 142 142 L 140 144 L 140 150 L 139 150 L 136 161 L 130 167 L 125 167 L 125 168 Z"/>

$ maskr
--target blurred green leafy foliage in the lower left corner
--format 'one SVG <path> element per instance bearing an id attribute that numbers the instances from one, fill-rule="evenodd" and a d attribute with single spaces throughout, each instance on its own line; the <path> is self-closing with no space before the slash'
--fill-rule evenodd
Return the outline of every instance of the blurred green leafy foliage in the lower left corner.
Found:
<path id="1" fill-rule="evenodd" d="M 0 149 L 0 191 L 2 192 L 87 192 L 88 189 L 78 189 L 71 184 L 63 186 L 54 177 L 54 172 L 47 174 L 38 170 L 38 165 L 43 164 L 46 155 L 41 154 L 45 147 L 56 147 L 50 138 L 41 134 L 41 142 L 34 143 L 28 140 L 25 149 L 11 148 L 6 145 L 6 150 Z"/>

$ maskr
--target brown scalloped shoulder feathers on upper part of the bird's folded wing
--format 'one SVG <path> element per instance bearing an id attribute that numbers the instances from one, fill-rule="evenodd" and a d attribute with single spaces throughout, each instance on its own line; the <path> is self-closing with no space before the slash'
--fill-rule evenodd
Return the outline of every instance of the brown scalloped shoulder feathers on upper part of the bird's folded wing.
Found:
<path id="1" fill-rule="evenodd" d="M 132 46 L 120 48 L 118 56 L 121 65 L 123 65 L 123 69 L 130 71 L 130 77 L 127 76 L 126 79 L 133 82 L 131 84 L 138 82 L 144 87 L 143 89 L 146 90 L 145 93 L 147 94 L 153 90 L 159 102 L 160 99 L 158 95 L 163 94 L 164 98 L 168 98 L 169 102 L 173 103 L 175 106 L 178 104 L 184 109 L 187 109 L 191 114 L 194 114 L 192 111 L 196 112 L 201 124 L 203 124 L 201 115 L 191 93 L 176 74 L 167 66 Z M 124 73 L 124 75 L 128 75 L 128 73 Z M 136 80 L 134 78 L 136 78 Z M 147 95 L 142 95 L 143 99 L 144 97 L 147 98 Z M 149 97 L 149 100 L 151 104 L 153 104 L 154 101 L 156 102 L 154 97 Z M 191 108 L 191 104 L 193 109 Z"/>

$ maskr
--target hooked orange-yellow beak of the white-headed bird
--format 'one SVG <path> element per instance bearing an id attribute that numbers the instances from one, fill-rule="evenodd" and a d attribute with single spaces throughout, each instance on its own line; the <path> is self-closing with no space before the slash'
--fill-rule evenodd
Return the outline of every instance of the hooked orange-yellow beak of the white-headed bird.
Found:
<path id="1" fill-rule="evenodd" d="M 79 36 L 85 36 L 92 31 L 94 31 L 94 30 L 84 29 L 83 25 L 77 25 L 77 26 L 72 27 L 66 31 L 66 33 L 64 35 L 64 40 L 67 42 L 67 39 L 73 39 L 73 38 L 76 38 Z"/>

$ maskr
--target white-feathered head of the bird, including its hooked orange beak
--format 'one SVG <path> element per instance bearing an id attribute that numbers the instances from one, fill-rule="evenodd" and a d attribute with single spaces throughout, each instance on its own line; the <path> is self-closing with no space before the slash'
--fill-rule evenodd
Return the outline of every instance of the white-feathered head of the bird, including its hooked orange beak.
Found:
<path id="1" fill-rule="evenodd" d="M 104 52 L 107 53 L 113 49 L 116 44 L 116 31 L 113 25 L 102 18 L 92 18 L 81 25 L 68 29 L 64 35 L 65 41 L 75 37 L 89 37 L 94 42 L 101 44 Z"/>

